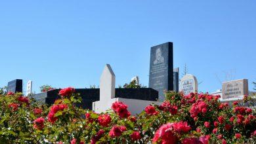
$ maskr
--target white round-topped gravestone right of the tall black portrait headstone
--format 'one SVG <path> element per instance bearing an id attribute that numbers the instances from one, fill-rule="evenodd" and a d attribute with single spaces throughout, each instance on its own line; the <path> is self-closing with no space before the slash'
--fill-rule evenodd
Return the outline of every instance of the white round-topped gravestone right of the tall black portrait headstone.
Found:
<path id="1" fill-rule="evenodd" d="M 190 94 L 191 92 L 198 92 L 198 81 L 194 75 L 186 74 L 181 79 L 180 91 L 184 95 Z"/>

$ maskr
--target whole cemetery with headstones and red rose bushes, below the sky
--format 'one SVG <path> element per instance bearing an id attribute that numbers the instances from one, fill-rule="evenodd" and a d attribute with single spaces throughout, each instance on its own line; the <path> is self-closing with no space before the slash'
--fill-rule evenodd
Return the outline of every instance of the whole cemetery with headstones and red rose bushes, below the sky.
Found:
<path id="1" fill-rule="evenodd" d="M 106 64 L 99 88 L 22 92 L 22 79 L 0 90 L 1 143 L 256 143 L 255 94 L 248 80 L 199 92 L 196 76 L 179 78 L 173 43 L 150 49 L 148 88 L 116 88 Z"/>

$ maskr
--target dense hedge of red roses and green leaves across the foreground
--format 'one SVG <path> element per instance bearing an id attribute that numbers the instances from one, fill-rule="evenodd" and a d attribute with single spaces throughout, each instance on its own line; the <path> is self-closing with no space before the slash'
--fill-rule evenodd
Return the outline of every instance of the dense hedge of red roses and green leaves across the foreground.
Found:
<path id="1" fill-rule="evenodd" d="M 1 143 L 256 143 L 255 109 L 218 96 L 165 92 L 166 101 L 135 117 L 125 103 L 97 114 L 75 106 L 81 98 L 74 88 L 59 94 L 51 107 L 1 94 Z"/>

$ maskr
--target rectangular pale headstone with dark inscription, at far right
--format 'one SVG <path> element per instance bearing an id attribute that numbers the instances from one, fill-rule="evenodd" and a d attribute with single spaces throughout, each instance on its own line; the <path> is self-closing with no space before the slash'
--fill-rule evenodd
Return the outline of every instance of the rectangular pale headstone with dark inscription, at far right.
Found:
<path id="1" fill-rule="evenodd" d="M 248 94 L 247 79 L 223 82 L 223 99 L 238 98 L 238 96 L 245 96 Z"/>

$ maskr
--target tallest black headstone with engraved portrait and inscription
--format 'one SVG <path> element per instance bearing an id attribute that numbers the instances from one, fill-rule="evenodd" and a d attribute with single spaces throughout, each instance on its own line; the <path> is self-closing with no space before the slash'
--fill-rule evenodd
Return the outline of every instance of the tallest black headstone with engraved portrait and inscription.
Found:
<path id="1" fill-rule="evenodd" d="M 159 92 L 164 101 L 164 90 L 173 90 L 173 43 L 153 46 L 150 52 L 149 87 Z"/>

